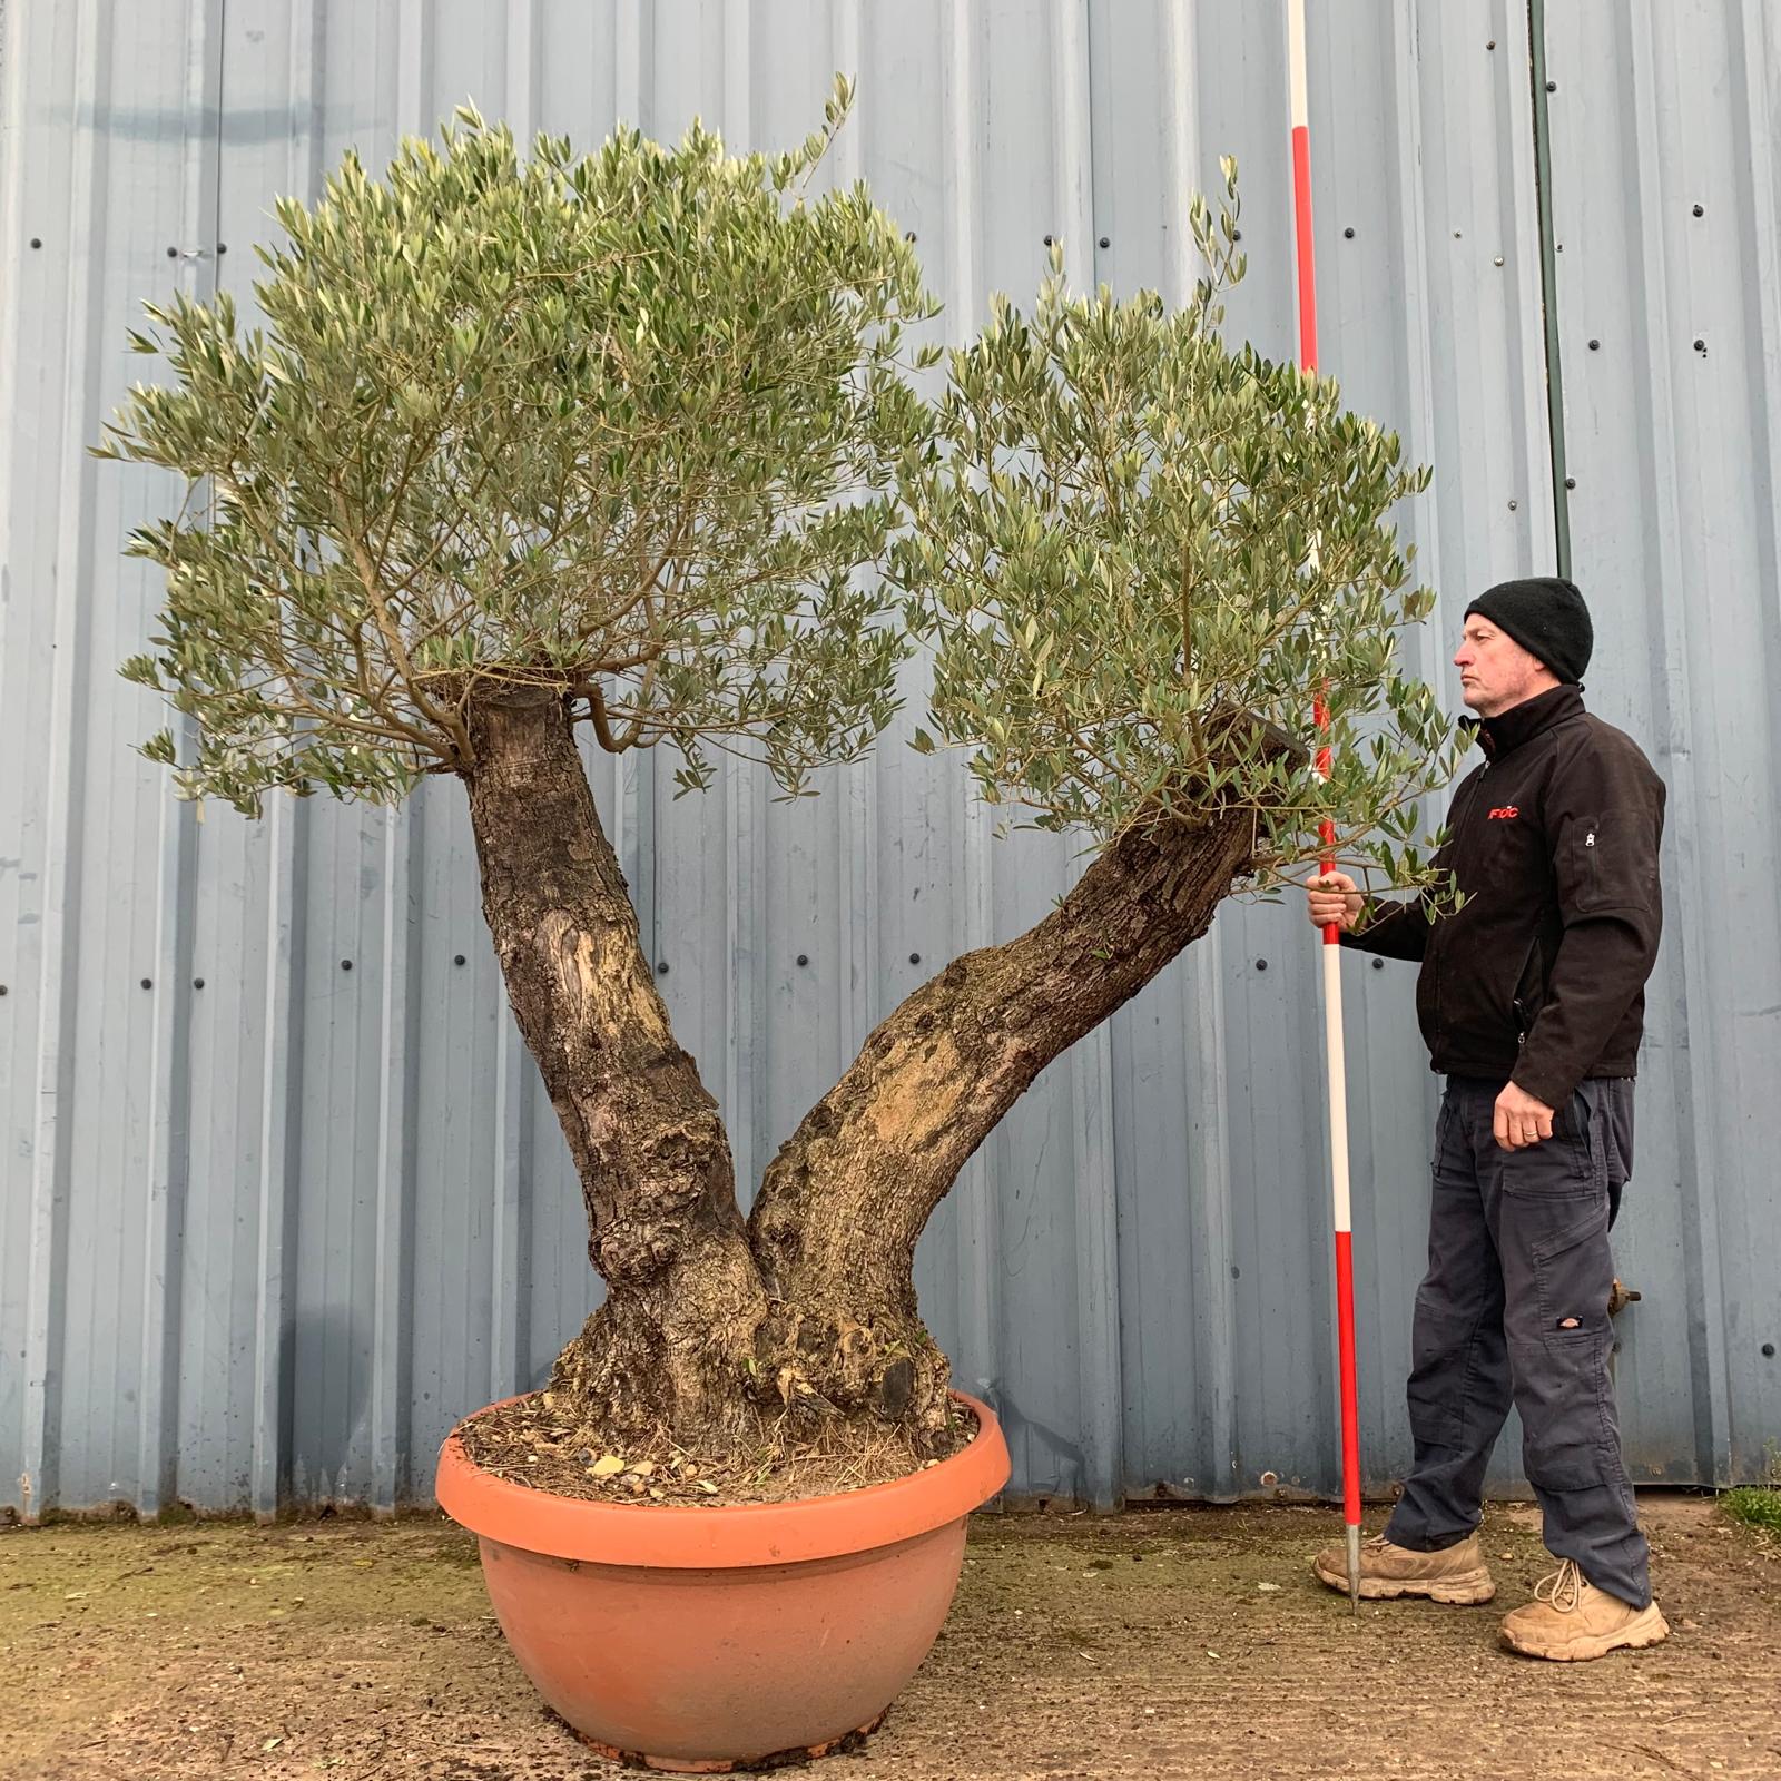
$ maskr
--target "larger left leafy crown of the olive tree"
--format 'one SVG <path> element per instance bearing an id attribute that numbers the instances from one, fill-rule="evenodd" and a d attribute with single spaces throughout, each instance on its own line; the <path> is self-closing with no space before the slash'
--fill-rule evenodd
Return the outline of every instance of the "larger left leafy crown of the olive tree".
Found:
<path id="1" fill-rule="evenodd" d="M 882 581 L 933 303 L 864 187 L 803 192 L 846 112 L 775 157 L 695 125 L 598 153 L 458 114 L 383 182 L 278 205 L 264 324 L 150 310 L 167 386 L 107 454 L 191 483 L 126 675 L 196 725 L 189 793 L 399 800 L 468 766 L 479 684 L 561 686 L 609 748 L 752 737 L 796 785 L 889 721 Z M 150 753 L 175 764 L 171 734 Z"/>

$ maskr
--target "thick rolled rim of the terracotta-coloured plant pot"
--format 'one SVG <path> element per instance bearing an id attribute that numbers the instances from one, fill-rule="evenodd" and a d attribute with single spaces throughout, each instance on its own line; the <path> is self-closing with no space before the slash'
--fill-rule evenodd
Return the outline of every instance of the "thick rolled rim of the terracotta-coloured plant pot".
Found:
<path id="1" fill-rule="evenodd" d="M 590 1503 L 483 1471 L 465 1453 L 454 1428 L 440 1448 L 435 1496 L 452 1521 L 481 1539 L 549 1558 L 668 1569 L 839 1558 L 944 1528 L 980 1509 L 1008 1482 L 1008 1443 L 996 1412 L 969 1393 L 949 1396 L 976 1416 L 976 1439 L 939 1466 L 864 1491 L 709 1509 Z M 515 1398 L 497 1402 L 513 1403 Z"/>

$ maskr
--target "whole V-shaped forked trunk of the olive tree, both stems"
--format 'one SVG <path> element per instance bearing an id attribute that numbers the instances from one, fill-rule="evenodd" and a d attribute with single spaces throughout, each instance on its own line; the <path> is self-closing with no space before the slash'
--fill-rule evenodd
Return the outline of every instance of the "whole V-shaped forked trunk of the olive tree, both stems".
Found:
<path id="1" fill-rule="evenodd" d="M 1206 931 L 1248 866 L 1250 819 L 1127 834 L 1031 931 L 915 990 L 780 1149 L 744 1225 L 561 695 L 479 696 L 470 734 L 483 912 L 607 1282 L 552 1389 L 613 1434 L 705 1450 L 778 1402 L 939 1450 L 947 1362 L 915 1307 L 923 1227 L 1033 1078 Z"/>

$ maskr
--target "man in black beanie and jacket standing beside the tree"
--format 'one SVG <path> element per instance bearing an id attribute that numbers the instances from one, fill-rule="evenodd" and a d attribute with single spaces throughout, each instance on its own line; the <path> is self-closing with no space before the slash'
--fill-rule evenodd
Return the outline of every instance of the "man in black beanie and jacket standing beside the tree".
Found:
<path id="1" fill-rule="evenodd" d="M 1361 1594 L 1496 1594 L 1476 1530 L 1514 1402 L 1558 1569 L 1503 1639 L 1541 1658 L 1598 1658 L 1669 1631 L 1608 1375 L 1608 1227 L 1633 1163 L 1663 784 L 1583 709 L 1592 643 L 1569 581 L 1509 581 L 1473 600 L 1453 664 L 1485 759 L 1453 794 L 1435 855 L 1460 907 L 1368 903 L 1341 873 L 1309 896 L 1311 921 L 1338 923 L 1345 946 L 1421 962 L 1416 1012 L 1448 1079 L 1416 1293 L 1414 1464 L 1362 1548 Z M 1316 1571 L 1346 1589 L 1339 1546 Z"/>

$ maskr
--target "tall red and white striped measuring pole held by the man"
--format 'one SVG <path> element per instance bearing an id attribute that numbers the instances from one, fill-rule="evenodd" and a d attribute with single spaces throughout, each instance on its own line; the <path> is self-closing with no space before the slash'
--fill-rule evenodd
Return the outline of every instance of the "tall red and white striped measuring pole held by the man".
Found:
<path id="1" fill-rule="evenodd" d="M 1305 78 L 1305 0 L 1286 0 L 1286 53 L 1293 102 L 1293 223 L 1298 239 L 1298 363 L 1318 369 L 1318 280 L 1311 251 L 1311 112 Z M 1316 540 L 1311 543 L 1316 566 Z M 1316 769 L 1330 771 L 1329 707 L 1314 702 Z M 1320 871 L 1336 869 L 1336 825 L 1323 823 Z M 1354 1366 L 1354 1220 L 1348 1204 L 1348 1065 L 1341 1029 L 1341 928 L 1323 930 L 1323 1053 L 1330 1108 L 1330 1197 L 1336 1222 L 1336 1341 L 1341 1357 L 1341 1496 L 1348 1535 L 1348 1598 L 1361 1603 L 1361 1407 Z"/>

